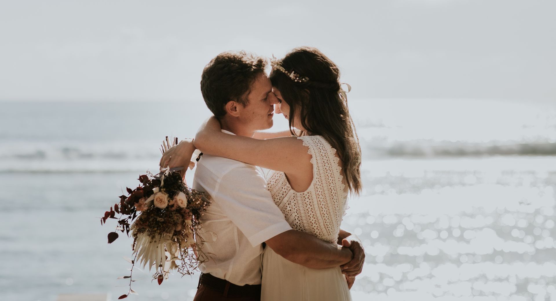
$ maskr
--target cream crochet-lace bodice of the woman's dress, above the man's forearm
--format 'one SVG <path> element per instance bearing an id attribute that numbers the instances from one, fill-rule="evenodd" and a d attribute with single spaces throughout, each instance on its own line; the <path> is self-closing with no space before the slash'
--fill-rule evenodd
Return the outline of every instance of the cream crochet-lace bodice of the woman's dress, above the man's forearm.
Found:
<path id="1" fill-rule="evenodd" d="M 346 209 L 347 192 L 342 183 L 336 150 L 322 136 L 297 137 L 309 147 L 313 179 L 304 192 L 291 188 L 283 172 L 272 172 L 267 185 L 272 199 L 293 229 L 335 243 Z"/>

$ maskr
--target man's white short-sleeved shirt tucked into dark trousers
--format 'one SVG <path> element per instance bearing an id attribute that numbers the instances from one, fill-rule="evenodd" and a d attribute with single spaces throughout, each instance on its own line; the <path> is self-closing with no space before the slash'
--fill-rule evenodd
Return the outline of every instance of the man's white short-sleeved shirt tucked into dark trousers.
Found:
<path id="1" fill-rule="evenodd" d="M 291 229 L 266 189 L 263 170 L 203 154 L 192 188 L 209 193 L 212 202 L 197 238 L 209 257 L 201 272 L 236 285 L 261 284 L 262 243 Z"/>

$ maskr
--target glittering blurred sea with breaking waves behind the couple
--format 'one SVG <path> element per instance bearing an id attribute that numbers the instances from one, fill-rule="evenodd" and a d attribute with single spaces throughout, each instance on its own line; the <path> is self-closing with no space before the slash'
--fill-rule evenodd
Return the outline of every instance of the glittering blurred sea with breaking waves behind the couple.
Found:
<path id="1" fill-rule="evenodd" d="M 131 239 L 100 224 L 202 102 L 0 103 L 0 299 L 127 292 Z M 556 300 L 556 104 L 350 99 L 363 193 L 342 228 L 366 252 L 354 300 Z M 275 128 L 285 129 L 281 115 Z M 192 172 L 186 175 L 190 182 Z M 190 182 L 191 183 L 191 182 Z M 137 276 L 135 276 L 137 275 Z M 130 300 L 192 300 L 198 273 L 134 273 Z"/>

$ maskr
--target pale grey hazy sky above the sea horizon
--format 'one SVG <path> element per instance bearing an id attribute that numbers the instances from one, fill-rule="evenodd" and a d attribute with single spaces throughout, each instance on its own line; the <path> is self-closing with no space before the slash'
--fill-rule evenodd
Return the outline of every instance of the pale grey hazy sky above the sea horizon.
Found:
<path id="1" fill-rule="evenodd" d="M 222 51 L 307 45 L 350 97 L 556 102 L 554 16 L 530 0 L 3 1 L 0 100 L 191 101 Z"/>

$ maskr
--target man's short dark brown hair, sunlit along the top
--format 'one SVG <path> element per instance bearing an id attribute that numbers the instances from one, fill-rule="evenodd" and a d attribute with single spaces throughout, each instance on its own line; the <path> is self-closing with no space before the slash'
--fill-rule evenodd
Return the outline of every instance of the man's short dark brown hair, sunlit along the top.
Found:
<path id="1" fill-rule="evenodd" d="M 265 73 L 266 60 L 252 53 L 222 52 L 210 61 L 201 76 L 201 93 L 216 117 L 226 115 L 226 103 L 249 103 L 247 94 L 259 74 Z"/>

